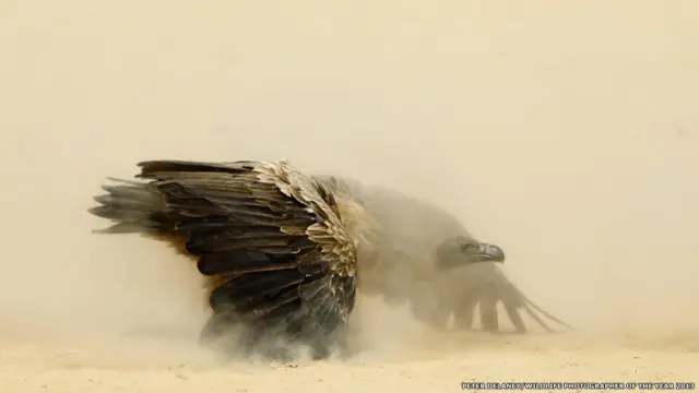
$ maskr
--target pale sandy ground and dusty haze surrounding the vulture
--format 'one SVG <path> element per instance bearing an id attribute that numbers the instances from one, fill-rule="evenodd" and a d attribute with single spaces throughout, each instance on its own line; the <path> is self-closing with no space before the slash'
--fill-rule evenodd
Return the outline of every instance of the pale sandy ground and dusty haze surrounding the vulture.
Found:
<path id="1" fill-rule="evenodd" d="M 430 4 L 0 0 L 0 389 L 697 382 L 699 3 Z M 448 206 L 578 332 L 437 335 L 363 299 L 346 364 L 222 365 L 193 267 L 85 210 L 141 159 L 283 157 Z"/>

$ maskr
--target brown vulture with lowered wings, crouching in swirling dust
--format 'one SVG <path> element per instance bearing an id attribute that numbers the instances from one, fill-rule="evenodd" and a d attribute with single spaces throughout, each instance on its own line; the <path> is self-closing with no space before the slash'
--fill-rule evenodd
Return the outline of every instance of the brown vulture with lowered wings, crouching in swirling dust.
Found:
<path id="1" fill-rule="evenodd" d="M 218 344 L 234 354 L 289 359 L 300 345 L 315 359 L 330 356 L 344 344 L 357 290 L 412 303 L 433 325 L 447 311 L 467 320 L 484 297 L 525 305 L 513 286 L 472 285 L 461 299 L 437 288 L 440 273 L 502 263 L 505 253 L 410 198 L 307 176 L 287 162 L 138 166 L 137 180 L 108 178 L 106 193 L 94 198 L 99 205 L 90 212 L 111 221 L 95 231 L 140 234 L 189 257 L 206 277 L 212 311 L 201 340 L 223 337 Z M 416 298 L 418 287 L 445 303 Z"/>

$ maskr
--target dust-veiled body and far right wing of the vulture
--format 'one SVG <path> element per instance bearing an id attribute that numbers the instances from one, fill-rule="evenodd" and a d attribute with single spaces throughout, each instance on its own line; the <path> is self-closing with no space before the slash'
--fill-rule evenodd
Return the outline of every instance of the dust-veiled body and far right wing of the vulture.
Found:
<path id="1" fill-rule="evenodd" d="M 565 330 L 568 323 L 543 310 L 511 283 L 499 265 L 500 248 L 477 241 L 451 213 L 427 201 L 386 187 L 367 186 L 335 176 L 319 176 L 333 192 L 360 203 L 376 223 L 372 241 L 359 258 L 359 289 L 389 303 L 407 303 L 419 321 L 445 330 L 454 317 L 458 329 L 473 327 L 476 306 L 482 330 L 499 333 L 497 303 L 501 302 L 517 333 L 528 329 L 519 310 L 550 333 L 547 322 Z M 449 252 L 450 242 L 490 249 L 489 261 L 464 263 Z M 446 252 L 445 252 L 446 251 Z M 455 263 L 454 263 L 455 262 Z"/>

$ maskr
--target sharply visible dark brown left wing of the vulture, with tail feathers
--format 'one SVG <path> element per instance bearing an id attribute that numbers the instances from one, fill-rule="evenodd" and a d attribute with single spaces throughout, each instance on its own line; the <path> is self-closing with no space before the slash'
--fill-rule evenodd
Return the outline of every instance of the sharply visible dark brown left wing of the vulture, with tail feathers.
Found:
<path id="1" fill-rule="evenodd" d="M 150 160 L 105 186 L 103 233 L 166 239 L 211 278 L 214 317 L 327 336 L 354 307 L 356 249 L 331 192 L 286 163 Z"/>

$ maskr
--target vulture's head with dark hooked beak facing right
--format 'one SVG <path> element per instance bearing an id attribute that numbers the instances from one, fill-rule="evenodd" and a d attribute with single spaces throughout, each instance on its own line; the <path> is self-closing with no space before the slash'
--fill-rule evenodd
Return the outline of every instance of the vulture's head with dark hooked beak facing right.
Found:
<path id="1" fill-rule="evenodd" d="M 505 263 L 505 252 L 496 245 L 466 236 L 454 236 L 435 250 L 437 267 L 451 269 L 482 262 Z"/>

